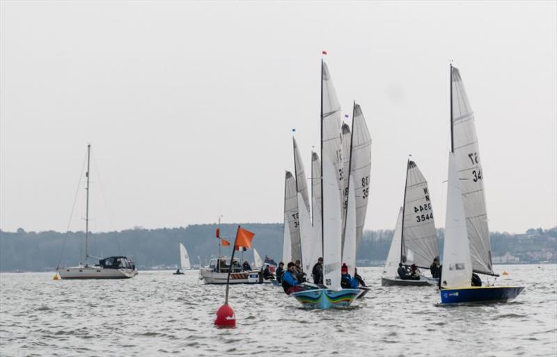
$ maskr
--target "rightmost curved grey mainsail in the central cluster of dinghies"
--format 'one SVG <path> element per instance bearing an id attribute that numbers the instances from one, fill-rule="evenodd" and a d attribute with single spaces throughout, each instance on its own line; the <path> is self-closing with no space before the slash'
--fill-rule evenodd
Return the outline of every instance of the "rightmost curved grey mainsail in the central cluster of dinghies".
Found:
<path id="1" fill-rule="evenodd" d="M 350 176 L 354 177 L 356 197 L 356 249 L 363 235 L 371 183 L 371 135 L 361 108 L 354 103 L 352 116 L 352 149 L 350 150 Z"/>

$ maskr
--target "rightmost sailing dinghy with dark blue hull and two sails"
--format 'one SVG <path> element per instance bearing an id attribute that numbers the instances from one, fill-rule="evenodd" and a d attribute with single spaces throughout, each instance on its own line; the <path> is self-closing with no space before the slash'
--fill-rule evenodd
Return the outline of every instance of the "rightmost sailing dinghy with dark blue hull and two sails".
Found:
<path id="1" fill-rule="evenodd" d="M 483 170 L 471 106 L 460 72 L 450 66 L 450 153 L 441 304 L 507 302 L 524 286 L 472 286 L 493 272 Z"/>

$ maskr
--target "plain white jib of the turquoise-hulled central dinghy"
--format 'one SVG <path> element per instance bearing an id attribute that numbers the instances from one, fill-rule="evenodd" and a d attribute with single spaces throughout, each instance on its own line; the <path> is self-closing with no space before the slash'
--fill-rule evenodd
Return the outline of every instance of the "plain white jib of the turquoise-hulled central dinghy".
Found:
<path id="1" fill-rule="evenodd" d="M 340 199 L 334 163 L 327 154 L 323 167 L 323 282 L 327 288 L 340 290 Z"/>

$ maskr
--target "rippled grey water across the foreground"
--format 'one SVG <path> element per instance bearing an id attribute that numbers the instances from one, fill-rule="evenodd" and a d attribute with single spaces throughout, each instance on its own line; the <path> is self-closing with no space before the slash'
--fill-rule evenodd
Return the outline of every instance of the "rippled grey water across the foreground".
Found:
<path id="1" fill-rule="evenodd" d="M 235 285 L 237 328 L 216 329 L 224 288 L 198 272 L 125 281 L 0 274 L 2 356 L 556 356 L 556 265 L 499 265 L 524 284 L 510 304 L 437 306 L 434 288 L 373 290 L 348 310 L 302 310 L 281 288 Z"/>

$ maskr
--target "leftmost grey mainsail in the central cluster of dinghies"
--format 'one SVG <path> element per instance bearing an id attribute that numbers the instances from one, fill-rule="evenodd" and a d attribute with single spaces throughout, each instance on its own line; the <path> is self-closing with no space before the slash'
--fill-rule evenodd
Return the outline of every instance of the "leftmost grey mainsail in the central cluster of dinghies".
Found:
<path id="1" fill-rule="evenodd" d="M 301 260 L 300 224 L 298 213 L 298 199 L 296 192 L 296 178 L 292 173 L 286 172 L 284 190 L 284 214 L 288 221 L 290 232 L 290 255 L 292 261 Z"/>

